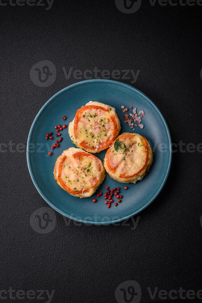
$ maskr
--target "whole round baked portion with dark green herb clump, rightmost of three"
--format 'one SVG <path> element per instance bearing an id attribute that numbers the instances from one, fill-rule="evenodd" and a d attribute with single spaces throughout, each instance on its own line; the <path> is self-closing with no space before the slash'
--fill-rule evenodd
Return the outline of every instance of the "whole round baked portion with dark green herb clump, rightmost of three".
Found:
<path id="1" fill-rule="evenodd" d="M 136 183 L 149 171 L 152 161 L 152 149 L 144 136 L 123 133 L 107 150 L 104 168 L 118 182 Z"/>

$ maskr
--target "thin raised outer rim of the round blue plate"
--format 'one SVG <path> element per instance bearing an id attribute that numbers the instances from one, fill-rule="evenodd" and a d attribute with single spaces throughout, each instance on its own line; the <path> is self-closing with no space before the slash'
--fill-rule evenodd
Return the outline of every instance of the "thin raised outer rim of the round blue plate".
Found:
<path id="1" fill-rule="evenodd" d="M 30 137 L 31 137 L 31 134 L 32 134 L 32 130 L 34 128 L 34 125 L 38 119 L 38 117 L 40 116 L 41 112 L 43 111 L 43 109 L 52 101 L 52 99 L 54 99 L 57 95 L 61 94 L 62 92 L 64 92 L 65 90 L 68 90 L 69 88 L 71 87 L 74 87 L 74 86 L 78 86 L 80 84 L 83 84 L 83 83 L 89 83 L 89 82 L 106 82 L 106 83 L 114 83 L 114 84 L 118 84 L 118 85 L 121 85 L 121 86 L 126 86 L 136 92 L 138 92 L 140 95 L 142 95 L 144 98 L 147 99 L 147 101 L 158 111 L 158 114 L 161 116 L 162 118 L 162 121 L 164 122 L 164 125 L 166 127 L 166 131 L 167 131 L 167 134 L 168 134 L 168 138 L 169 138 L 169 143 L 171 144 L 172 143 L 172 140 L 171 140 L 171 136 L 170 136 L 170 130 L 168 128 L 168 125 L 166 123 L 166 120 L 165 118 L 163 117 L 161 111 L 158 109 L 158 107 L 154 104 L 154 102 L 148 97 L 146 96 L 143 92 L 141 92 L 139 89 L 129 85 L 129 84 L 126 84 L 124 82 L 119 82 L 119 81 L 115 81 L 115 80 L 109 80 L 109 79 L 89 79 L 89 80 L 84 80 L 84 81 L 79 81 L 79 82 L 76 82 L 76 83 L 73 83 L 67 87 L 64 87 L 62 88 L 60 91 L 58 91 L 57 93 L 55 93 L 52 97 L 50 97 L 48 99 L 48 101 L 46 101 L 46 103 L 41 107 L 41 109 L 38 111 L 38 113 L 36 114 L 36 117 L 34 118 L 34 121 L 32 122 L 32 125 L 31 125 L 31 128 L 29 130 L 29 134 L 28 134 L 28 138 L 27 138 L 27 166 L 28 166 L 28 170 L 29 170 L 29 174 L 30 174 L 30 177 L 32 179 L 32 182 L 36 188 L 36 190 L 38 191 L 38 193 L 40 194 L 40 196 L 44 199 L 44 201 L 46 203 L 48 203 L 49 206 L 51 206 L 55 211 L 59 212 L 61 215 L 69 218 L 69 219 L 72 219 L 72 220 L 75 220 L 75 221 L 78 221 L 78 222 L 82 222 L 82 223 L 85 223 L 85 224 L 92 224 L 92 225 L 109 225 L 109 224 L 114 224 L 114 223 L 118 223 L 118 222 L 121 222 L 121 221 L 124 221 L 124 220 L 127 220 L 135 215 L 137 215 L 138 213 L 140 213 L 141 211 L 143 211 L 146 207 L 149 206 L 149 204 L 151 204 L 155 198 L 160 194 L 161 190 L 163 189 L 165 183 L 166 183 L 166 180 L 168 178 L 168 175 L 169 175 L 169 172 L 170 172 L 170 167 L 171 167 L 171 163 L 172 163 L 172 152 L 170 149 L 168 149 L 170 152 L 169 152 L 169 165 L 167 167 L 167 171 L 166 171 L 166 175 L 163 179 L 163 182 L 161 184 L 161 186 L 159 187 L 158 191 L 156 192 L 156 194 L 151 198 L 149 199 L 148 203 L 146 203 L 143 207 L 139 208 L 138 210 L 134 211 L 133 213 L 131 213 L 129 216 L 124 216 L 122 218 L 119 218 L 117 220 L 111 220 L 111 221 L 108 221 L 108 222 L 95 222 L 95 221 L 86 221 L 86 220 L 80 220 L 79 218 L 77 218 L 76 216 L 71 216 L 71 214 L 66 214 L 64 213 L 64 211 L 61 211 L 60 209 L 58 209 L 56 206 L 54 206 L 51 202 L 48 201 L 48 199 L 46 199 L 44 197 L 44 194 L 41 192 L 41 190 L 38 188 L 36 182 L 35 182 L 35 179 L 33 177 L 33 174 L 32 174 L 32 168 L 31 168 L 31 165 L 30 165 L 30 158 L 29 158 L 29 152 L 28 152 L 28 145 L 29 145 L 29 141 L 30 141 Z"/>

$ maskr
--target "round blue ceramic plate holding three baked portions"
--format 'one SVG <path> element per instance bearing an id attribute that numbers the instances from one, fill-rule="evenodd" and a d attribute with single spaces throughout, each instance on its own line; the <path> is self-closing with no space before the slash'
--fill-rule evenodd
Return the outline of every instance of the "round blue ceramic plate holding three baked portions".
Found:
<path id="1" fill-rule="evenodd" d="M 115 107 L 121 122 L 121 131 L 137 132 L 146 137 L 154 152 L 154 161 L 149 173 L 137 184 L 129 183 L 128 190 L 124 190 L 124 183 L 118 183 L 106 176 L 99 186 L 98 192 L 105 192 L 105 186 L 110 188 L 120 187 L 124 196 L 117 207 L 112 203 L 111 208 L 104 204 L 104 198 L 96 198 L 94 194 L 90 198 L 76 198 L 61 189 L 54 177 L 53 168 L 59 155 L 69 147 L 75 147 L 68 134 L 68 128 L 62 133 L 63 141 L 59 148 L 51 150 L 55 143 L 54 126 L 69 124 L 82 105 L 90 100 L 99 101 Z M 124 113 L 121 105 L 128 107 L 133 105 L 139 110 L 144 110 L 142 118 L 144 128 L 136 127 L 131 130 L 124 124 Z M 62 116 L 67 120 L 63 121 Z M 45 134 L 52 131 L 54 140 L 45 140 Z M 111 80 L 87 80 L 70 85 L 45 103 L 36 115 L 29 132 L 27 141 L 27 163 L 32 181 L 44 200 L 62 215 L 71 219 L 89 224 L 111 224 L 132 217 L 147 207 L 160 193 L 164 186 L 171 164 L 171 139 L 168 126 L 159 109 L 154 103 L 136 88 L 127 84 Z M 48 156 L 52 151 L 53 155 Z M 106 151 L 95 154 L 103 161 Z"/>

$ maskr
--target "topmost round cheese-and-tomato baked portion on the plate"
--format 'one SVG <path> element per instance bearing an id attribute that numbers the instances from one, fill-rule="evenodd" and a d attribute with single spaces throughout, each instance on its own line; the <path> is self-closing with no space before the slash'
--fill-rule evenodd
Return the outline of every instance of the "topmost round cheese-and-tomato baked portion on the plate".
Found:
<path id="1" fill-rule="evenodd" d="M 77 110 L 74 120 L 69 123 L 69 136 L 76 146 L 96 153 L 110 146 L 120 128 L 112 106 L 90 101 Z"/>

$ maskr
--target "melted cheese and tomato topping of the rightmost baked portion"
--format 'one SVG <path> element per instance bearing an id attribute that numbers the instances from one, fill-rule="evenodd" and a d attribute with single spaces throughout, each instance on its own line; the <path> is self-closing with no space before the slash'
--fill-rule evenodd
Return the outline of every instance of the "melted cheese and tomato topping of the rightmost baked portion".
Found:
<path id="1" fill-rule="evenodd" d="M 138 134 L 120 135 L 107 151 L 107 165 L 112 173 L 122 178 L 137 174 L 147 161 L 147 149 Z"/>

